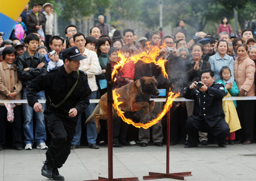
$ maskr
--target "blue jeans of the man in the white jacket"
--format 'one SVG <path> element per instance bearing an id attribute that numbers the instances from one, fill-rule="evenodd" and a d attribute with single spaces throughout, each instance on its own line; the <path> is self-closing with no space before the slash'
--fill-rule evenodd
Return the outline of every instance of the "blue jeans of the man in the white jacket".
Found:
<path id="1" fill-rule="evenodd" d="M 97 91 L 93 91 L 90 99 L 96 99 Z M 90 103 L 88 107 L 85 109 L 85 119 L 87 119 L 91 113 L 93 112 L 94 108 L 96 107 L 95 103 Z M 86 131 L 87 131 L 87 141 L 89 145 L 96 144 L 96 122 L 86 124 Z M 81 126 L 81 115 L 78 117 L 77 125 L 76 125 L 76 133 L 74 134 L 72 145 L 80 145 L 81 140 L 81 133 L 82 133 L 82 126 Z"/>

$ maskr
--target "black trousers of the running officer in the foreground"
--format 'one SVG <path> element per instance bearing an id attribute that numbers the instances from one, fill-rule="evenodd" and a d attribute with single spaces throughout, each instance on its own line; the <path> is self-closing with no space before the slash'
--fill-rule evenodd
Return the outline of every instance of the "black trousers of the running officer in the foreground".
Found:
<path id="1" fill-rule="evenodd" d="M 46 158 L 53 160 L 53 167 L 60 168 L 70 154 L 71 141 L 76 132 L 77 116 L 69 117 L 53 111 L 44 111 L 48 131 L 52 140 L 46 152 Z"/>

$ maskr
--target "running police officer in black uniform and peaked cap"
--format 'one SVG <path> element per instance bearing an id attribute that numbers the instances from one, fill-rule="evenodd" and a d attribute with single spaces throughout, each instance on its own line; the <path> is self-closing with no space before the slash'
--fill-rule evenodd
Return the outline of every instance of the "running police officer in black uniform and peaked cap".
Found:
<path id="1" fill-rule="evenodd" d="M 46 92 L 47 109 L 44 117 L 52 140 L 46 152 L 42 175 L 53 180 L 64 180 L 57 168 L 62 167 L 67 160 L 77 117 L 89 104 L 92 91 L 86 73 L 79 70 L 80 60 L 84 58 L 77 47 L 68 48 L 63 51 L 63 66 L 39 75 L 27 85 L 28 104 L 36 112 L 42 112 L 36 92 Z"/>

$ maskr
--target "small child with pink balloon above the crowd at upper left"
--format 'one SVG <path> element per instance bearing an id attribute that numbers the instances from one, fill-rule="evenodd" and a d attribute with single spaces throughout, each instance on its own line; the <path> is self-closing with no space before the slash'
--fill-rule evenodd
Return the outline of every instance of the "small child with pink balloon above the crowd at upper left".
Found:
<path id="1" fill-rule="evenodd" d="M 22 17 L 19 16 L 17 21 L 14 24 L 13 33 L 11 37 L 12 38 L 16 37 L 17 39 L 23 42 L 26 32 L 27 32 L 27 26 L 25 23 L 22 22 Z"/>

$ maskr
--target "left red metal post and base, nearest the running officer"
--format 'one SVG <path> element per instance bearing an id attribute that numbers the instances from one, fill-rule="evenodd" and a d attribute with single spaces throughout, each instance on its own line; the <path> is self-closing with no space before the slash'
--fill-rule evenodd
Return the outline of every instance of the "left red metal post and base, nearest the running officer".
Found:
<path id="1" fill-rule="evenodd" d="M 98 177 L 99 181 L 121 181 L 121 180 L 139 180 L 138 177 L 133 178 L 117 178 L 113 179 L 113 95 L 112 95 L 112 68 L 108 63 L 106 67 L 106 79 L 108 81 L 108 172 L 109 178 Z M 96 181 L 96 180 L 84 180 L 84 181 Z"/>

